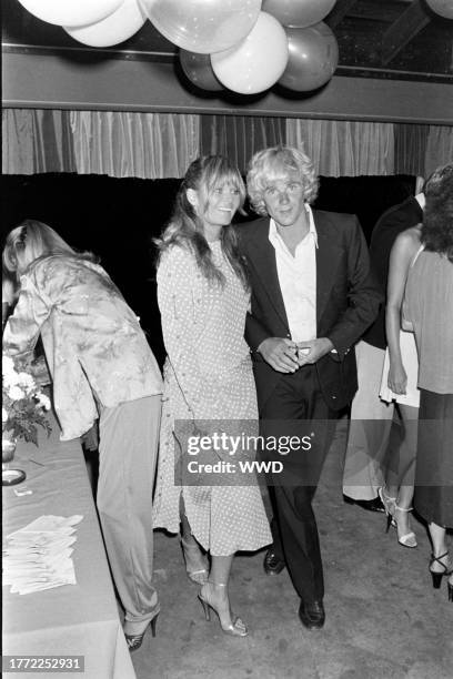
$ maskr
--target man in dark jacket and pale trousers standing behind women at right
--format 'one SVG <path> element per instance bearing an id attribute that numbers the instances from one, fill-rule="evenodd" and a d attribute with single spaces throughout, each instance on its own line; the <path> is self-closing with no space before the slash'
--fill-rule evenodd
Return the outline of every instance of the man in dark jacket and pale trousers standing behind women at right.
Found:
<path id="1" fill-rule="evenodd" d="M 422 178 L 419 178 L 422 182 Z M 386 210 L 371 234 L 370 261 L 382 294 L 389 277 L 390 253 L 396 236 L 423 221 L 424 193 Z M 384 485 L 385 456 L 394 405 L 379 398 L 386 348 L 385 304 L 356 346 L 359 391 L 352 402 L 344 459 L 343 494 L 355 501 L 373 503 Z M 396 429 L 394 429 L 396 432 Z"/>

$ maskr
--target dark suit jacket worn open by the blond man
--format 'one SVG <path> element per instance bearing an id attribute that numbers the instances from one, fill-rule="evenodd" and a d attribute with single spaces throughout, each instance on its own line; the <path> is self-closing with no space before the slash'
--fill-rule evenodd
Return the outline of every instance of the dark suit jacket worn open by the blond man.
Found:
<path id="1" fill-rule="evenodd" d="M 321 211 L 313 211 L 313 215 L 318 232 L 316 336 L 329 337 L 338 351 L 323 356 L 316 371 L 329 407 L 339 411 L 356 392 L 351 348 L 374 321 L 381 295 L 370 272 L 368 246 L 356 216 Z M 269 223 L 264 217 L 238 226 L 252 287 L 245 340 L 252 351 L 260 409 L 284 374 L 274 371 L 256 348 L 266 337 L 291 336 Z"/>

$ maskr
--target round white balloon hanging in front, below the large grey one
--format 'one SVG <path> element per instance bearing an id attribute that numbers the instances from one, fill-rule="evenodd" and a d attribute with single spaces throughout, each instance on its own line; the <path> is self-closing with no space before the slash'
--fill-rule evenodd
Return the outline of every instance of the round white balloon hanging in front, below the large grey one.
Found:
<path id="1" fill-rule="evenodd" d="M 225 88 L 255 94 L 271 88 L 288 63 L 284 28 L 274 17 L 260 12 L 249 36 L 238 45 L 211 54 L 212 69 Z"/>

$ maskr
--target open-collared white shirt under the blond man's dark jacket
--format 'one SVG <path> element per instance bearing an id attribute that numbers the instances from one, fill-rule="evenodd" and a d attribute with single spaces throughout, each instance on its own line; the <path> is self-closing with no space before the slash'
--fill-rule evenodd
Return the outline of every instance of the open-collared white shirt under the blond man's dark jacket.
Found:
<path id="1" fill-rule="evenodd" d="M 269 227 L 269 241 L 275 250 L 280 290 L 294 342 L 306 342 L 316 337 L 318 234 L 310 206 L 305 205 L 305 210 L 309 233 L 296 245 L 294 255 L 279 234 L 274 220 L 271 220 Z"/>

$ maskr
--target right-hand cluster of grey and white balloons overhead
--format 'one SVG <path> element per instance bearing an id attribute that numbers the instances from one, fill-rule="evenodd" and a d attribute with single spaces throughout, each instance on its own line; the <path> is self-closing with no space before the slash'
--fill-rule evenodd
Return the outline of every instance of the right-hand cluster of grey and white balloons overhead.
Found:
<path id="1" fill-rule="evenodd" d="M 181 0 L 170 0 L 170 4 L 179 7 L 178 31 L 173 17 L 170 24 L 169 16 L 164 14 L 168 0 L 142 2 L 153 7 L 154 13 L 149 13 L 149 17 L 154 26 L 182 48 L 180 62 L 187 78 L 204 90 L 219 91 L 223 85 L 241 94 L 256 94 L 279 82 L 290 90 L 310 91 L 329 82 L 338 67 L 336 39 L 322 22 L 336 0 L 263 0 L 262 11 L 253 14 L 253 23 L 249 23 L 248 32 L 242 38 L 238 34 L 239 7 L 235 7 L 234 27 L 228 31 L 230 40 L 234 39 L 233 44 L 223 49 L 219 41 L 223 32 L 219 29 L 215 33 L 212 27 L 214 23 L 221 27 L 222 20 L 228 21 L 225 14 L 233 9 L 235 0 L 185 0 L 184 22 L 181 21 Z M 157 21 L 159 4 L 161 11 Z M 203 18 L 200 12 L 193 12 L 197 4 L 203 4 L 207 9 Z M 258 4 L 261 6 L 261 2 Z M 245 9 L 246 3 L 242 0 L 240 6 Z M 246 9 L 251 19 L 252 8 L 249 6 Z M 256 8 L 253 7 L 253 10 Z M 242 22 L 241 27 L 244 26 Z M 207 44 L 208 40 L 211 41 L 210 45 Z M 197 52 L 203 52 L 204 57 L 197 55 Z M 208 52 L 210 59 L 207 58 Z"/>

